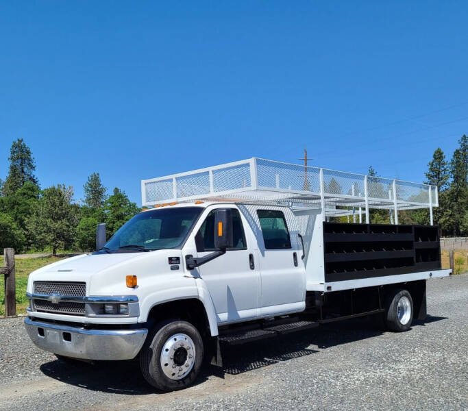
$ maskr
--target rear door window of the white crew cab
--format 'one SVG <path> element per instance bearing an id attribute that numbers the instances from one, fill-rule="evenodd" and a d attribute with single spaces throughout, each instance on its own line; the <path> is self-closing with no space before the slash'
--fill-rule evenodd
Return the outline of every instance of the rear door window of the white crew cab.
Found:
<path id="1" fill-rule="evenodd" d="M 288 226 L 282 211 L 257 210 L 265 249 L 291 248 Z"/>

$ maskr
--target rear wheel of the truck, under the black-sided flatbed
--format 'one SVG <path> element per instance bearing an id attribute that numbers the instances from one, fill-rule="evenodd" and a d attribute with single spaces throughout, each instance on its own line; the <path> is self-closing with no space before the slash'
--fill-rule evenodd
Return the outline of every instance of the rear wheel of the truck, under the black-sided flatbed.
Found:
<path id="1" fill-rule="evenodd" d="M 393 290 L 386 299 L 386 327 L 394 332 L 407 331 L 411 327 L 412 315 L 412 298 L 408 290 Z"/>

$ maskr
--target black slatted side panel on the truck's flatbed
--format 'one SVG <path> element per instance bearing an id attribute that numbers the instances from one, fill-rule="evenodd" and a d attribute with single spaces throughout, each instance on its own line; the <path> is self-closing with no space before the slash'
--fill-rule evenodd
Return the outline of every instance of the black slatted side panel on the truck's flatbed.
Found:
<path id="1" fill-rule="evenodd" d="M 325 282 L 441 269 L 439 227 L 323 223 Z"/>

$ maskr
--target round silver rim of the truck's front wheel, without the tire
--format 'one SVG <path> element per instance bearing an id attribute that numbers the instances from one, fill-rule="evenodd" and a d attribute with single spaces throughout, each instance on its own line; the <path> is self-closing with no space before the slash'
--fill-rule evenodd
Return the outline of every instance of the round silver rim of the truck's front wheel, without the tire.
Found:
<path id="1" fill-rule="evenodd" d="M 193 340 L 187 334 L 174 334 L 162 347 L 162 371 L 170 379 L 182 379 L 193 369 L 195 355 Z"/>

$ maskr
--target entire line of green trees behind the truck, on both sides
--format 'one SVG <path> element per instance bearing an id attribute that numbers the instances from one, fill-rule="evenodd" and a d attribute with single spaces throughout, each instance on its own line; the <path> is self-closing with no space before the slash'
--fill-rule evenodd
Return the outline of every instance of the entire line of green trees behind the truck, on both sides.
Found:
<path id="1" fill-rule="evenodd" d="M 31 149 L 22 139 L 12 143 L 10 167 L 5 181 L 0 179 L 0 249 L 17 251 L 91 251 L 95 247 L 98 223 L 106 223 L 112 236 L 123 223 L 140 211 L 120 188 L 107 194 L 99 173 L 84 184 L 84 201 L 73 199 L 73 187 L 57 184 L 41 189 L 34 175 L 36 164 Z M 378 177 L 372 166 L 370 177 Z M 332 187 L 330 192 L 340 192 Z M 439 189 L 439 208 L 434 208 L 434 224 L 443 236 L 468 236 L 468 138 L 458 140 L 458 148 L 447 160 L 440 148 L 434 151 L 426 171 L 426 184 Z M 383 188 L 382 188 L 383 189 Z M 389 210 L 370 210 L 371 223 L 391 223 Z M 400 224 L 429 224 L 429 210 L 400 211 Z M 341 221 L 342 218 L 339 220 Z"/>

